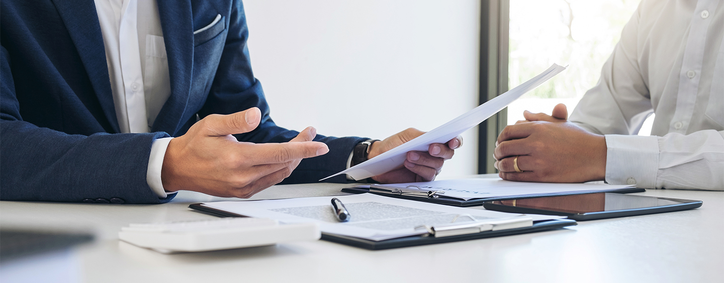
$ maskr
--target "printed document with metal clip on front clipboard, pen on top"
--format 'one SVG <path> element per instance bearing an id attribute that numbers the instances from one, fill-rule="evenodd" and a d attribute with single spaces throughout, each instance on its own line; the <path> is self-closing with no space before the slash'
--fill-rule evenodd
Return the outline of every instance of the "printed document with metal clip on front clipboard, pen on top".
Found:
<path id="1" fill-rule="evenodd" d="M 340 222 L 330 201 L 344 203 L 351 217 Z M 199 206 L 202 206 L 199 209 Z M 538 214 L 513 214 L 483 209 L 428 204 L 363 193 L 351 196 L 319 196 L 299 199 L 261 201 L 219 201 L 190 206 L 226 216 L 275 219 L 285 224 L 317 223 L 324 235 L 362 240 L 384 241 L 410 236 L 445 238 L 485 231 L 531 227 L 536 221 L 563 217 Z M 211 209 L 211 210 L 209 210 Z"/>

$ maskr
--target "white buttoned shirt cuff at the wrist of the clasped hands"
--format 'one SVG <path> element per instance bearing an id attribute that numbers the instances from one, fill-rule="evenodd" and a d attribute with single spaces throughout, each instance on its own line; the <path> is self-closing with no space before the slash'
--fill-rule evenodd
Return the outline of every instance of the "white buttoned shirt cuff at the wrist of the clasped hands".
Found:
<path id="1" fill-rule="evenodd" d="M 606 182 L 656 188 L 659 168 L 657 136 L 607 134 Z"/>

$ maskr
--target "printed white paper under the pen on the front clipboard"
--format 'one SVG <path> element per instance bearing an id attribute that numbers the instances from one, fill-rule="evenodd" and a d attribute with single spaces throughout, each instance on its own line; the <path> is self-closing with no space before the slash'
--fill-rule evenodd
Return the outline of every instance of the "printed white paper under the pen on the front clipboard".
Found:
<path id="1" fill-rule="evenodd" d="M 334 197 L 340 199 L 350 212 L 349 222 L 338 222 L 334 217 L 330 202 Z M 417 225 L 450 223 L 452 218 L 458 214 L 471 214 L 479 220 L 523 216 L 523 214 L 394 199 L 371 193 L 264 201 L 219 201 L 203 205 L 248 217 L 277 219 L 283 223 L 316 222 L 319 223 L 321 232 L 368 240 L 387 240 L 421 235 L 426 231 L 424 229 L 415 230 L 414 227 Z M 563 218 L 550 215 L 527 215 L 532 217 L 533 221 Z"/>

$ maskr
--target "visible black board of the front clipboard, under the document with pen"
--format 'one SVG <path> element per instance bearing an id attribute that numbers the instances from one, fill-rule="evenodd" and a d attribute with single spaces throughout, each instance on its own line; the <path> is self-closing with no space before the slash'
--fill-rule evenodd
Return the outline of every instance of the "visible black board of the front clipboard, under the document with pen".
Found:
<path id="1" fill-rule="evenodd" d="M 218 217 L 246 217 L 241 214 L 235 214 L 235 213 L 227 212 L 227 211 L 224 211 L 221 209 L 214 209 L 209 206 L 204 206 L 203 204 L 190 204 L 188 207 L 190 209 L 195 209 L 195 210 L 198 210 L 199 212 L 211 214 L 211 215 L 218 216 Z M 411 247 L 411 246 L 415 246 L 415 245 L 432 245 L 432 244 L 437 244 L 437 243 L 458 242 L 461 240 L 476 240 L 476 239 L 484 239 L 484 238 L 502 237 L 502 236 L 508 236 L 508 235 L 526 234 L 526 233 L 531 233 L 531 232 L 542 232 L 542 231 L 547 231 L 547 230 L 560 229 L 563 227 L 573 226 L 573 225 L 576 225 L 575 220 L 553 219 L 553 220 L 544 220 L 544 221 L 534 222 L 533 226 L 531 226 L 531 227 L 521 227 L 521 228 L 514 228 L 514 229 L 508 229 L 508 230 L 497 230 L 497 231 L 484 231 L 484 232 L 479 232 L 479 233 L 466 234 L 466 235 L 455 235 L 455 236 L 442 237 L 442 238 L 418 235 L 418 236 L 411 236 L 411 237 L 405 237 L 405 238 L 374 241 L 374 240 L 366 240 L 366 239 L 354 238 L 354 237 L 348 237 L 348 236 L 342 236 L 342 235 L 333 235 L 333 234 L 322 232 L 321 239 L 328 240 L 328 241 L 334 242 L 334 243 L 351 245 L 351 246 L 357 247 L 357 248 L 365 248 L 367 250 L 376 251 L 376 250 L 387 250 L 390 248 L 405 248 L 405 247 Z"/>

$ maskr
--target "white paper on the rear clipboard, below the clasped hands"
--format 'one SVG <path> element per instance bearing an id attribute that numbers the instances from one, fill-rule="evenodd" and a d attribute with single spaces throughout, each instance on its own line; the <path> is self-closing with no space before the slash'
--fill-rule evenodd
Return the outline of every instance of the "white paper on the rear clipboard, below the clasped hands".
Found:
<path id="1" fill-rule="evenodd" d="M 536 196 L 550 193 L 591 193 L 619 188 L 633 188 L 631 185 L 609 185 L 605 183 L 529 183 L 513 182 L 500 178 L 470 178 L 434 180 L 432 182 L 385 184 L 396 188 L 418 186 L 419 188 L 445 191 L 443 196 L 458 199 L 487 199 L 504 196 Z"/>

